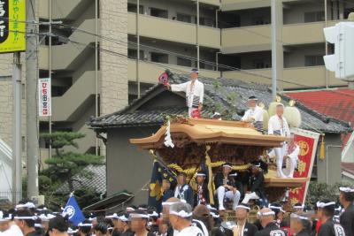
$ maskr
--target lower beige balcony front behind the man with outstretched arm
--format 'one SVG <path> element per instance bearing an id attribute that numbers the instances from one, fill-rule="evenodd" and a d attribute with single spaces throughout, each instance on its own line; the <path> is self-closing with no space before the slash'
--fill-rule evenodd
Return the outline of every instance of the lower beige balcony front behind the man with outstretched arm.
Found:
<path id="1" fill-rule="evenodd" d="M 165 69 L 170 69 L 173 72 L 173 69 L 177 72 L 186 72 L 190 71 L 190 67 L 181 66 L 181 65 L 169 65 L 169 64 L 158 64 L 151 62 L 139 62 L 139 77 L 142 83 L 156 84 L 158 82 L 158 76 L 165 72 Z M 128 59 L 127 62 L 127 73 L 129 81 L 136 81 L 136 60 Z M 200 76 L 209 77 L 209 78 L 219 78 L 220 72 L 211 71 L 211 70 L 200 70 Z"/>

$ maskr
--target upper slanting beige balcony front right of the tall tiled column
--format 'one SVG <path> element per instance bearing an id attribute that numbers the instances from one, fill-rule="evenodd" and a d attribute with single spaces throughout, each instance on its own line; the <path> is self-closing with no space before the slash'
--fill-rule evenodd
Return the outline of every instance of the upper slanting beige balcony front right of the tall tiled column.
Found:
<path id="1" fill-rule="evenodd" d="M 136 34 L 136 13 L 127 14 L 128 34 Z M 139 34 L 142 37 L 196 45 L 196 25 L 173 19 L 139 15 Z M 220 48 L 220 30 L 199 26 L 199 45 Z"/>

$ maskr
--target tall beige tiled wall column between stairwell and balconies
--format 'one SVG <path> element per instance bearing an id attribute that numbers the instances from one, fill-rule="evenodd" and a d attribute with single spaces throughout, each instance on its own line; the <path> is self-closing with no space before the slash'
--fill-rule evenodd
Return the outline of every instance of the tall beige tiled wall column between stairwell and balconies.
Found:
<path id="1" fill-rule="evenodd" d="M 100 34 L 127 42 L 127 0 L 100 1 Z M 117 111 L 127 105 L 127 47 L 100 41 L 100 103 L 101 115 Z"/>

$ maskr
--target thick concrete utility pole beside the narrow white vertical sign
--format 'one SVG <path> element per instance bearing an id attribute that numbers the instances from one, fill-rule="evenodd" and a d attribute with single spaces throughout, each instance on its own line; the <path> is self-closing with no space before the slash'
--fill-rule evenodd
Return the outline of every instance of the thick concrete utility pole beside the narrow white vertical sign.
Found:
<path id="1" fill-rule="evenodd" d="M 38 36 L 35 22 L 35 0 L 27 0 L 26 101 L 27 101 L 27 197 L 38 199 L 38 109 L 37 109 L 37 50 Z"/>

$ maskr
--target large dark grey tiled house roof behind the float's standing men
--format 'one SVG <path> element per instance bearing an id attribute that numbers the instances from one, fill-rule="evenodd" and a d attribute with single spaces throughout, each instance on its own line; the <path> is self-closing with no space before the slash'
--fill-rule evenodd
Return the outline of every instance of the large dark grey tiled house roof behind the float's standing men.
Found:
<path id="1" fill-rule="evenodd" d="M 169 78 L 171 83 L 183 83 L 189 80 L 188 75 L 173 74 Z M 266 106 L 272 102 L 271 91 L 264 85 L 255 83 L 247 83 L 241 80 L 229 79 L 209 79 L 200 78 L 204 83 L 204 107 L 215 108 L 216 111 L 222 113 L 228 110 L 231 113 L 230 119 L 240 120 L 242 114 L 247 110 L 247 100 L 250 95 L 256 95 L 258 101 L 265 103 Z M 161 125 L 163 123 L 164 114 L 183 114 L 186 113 L 186 108 L 183 107 L 159 107 L 156 110 L 139 110 L 139 104 L 142 101 L 149 100 L 157 92 L 164 92 L 165 88 L 162 85 L 155 85 L 128 105 L 125 109 L 115 113 L 92 118 L 89 126 L 95 129 L 122 127 L 122 126 L 150 126 Z M 283 101 L 289 101 L 288 96 L 282 96 Z M 350 126 L 348 123 L 341 120 L 327 117 L 319 112 L 312 110 L 302 103 L 296 103 L 296 107 L 302 114 L 301 128 L 320 131 L 324 133 L 348 133 Z M 208 118 L 212 114 L 209 110 L 204 110 L 202 117 Z"/>

